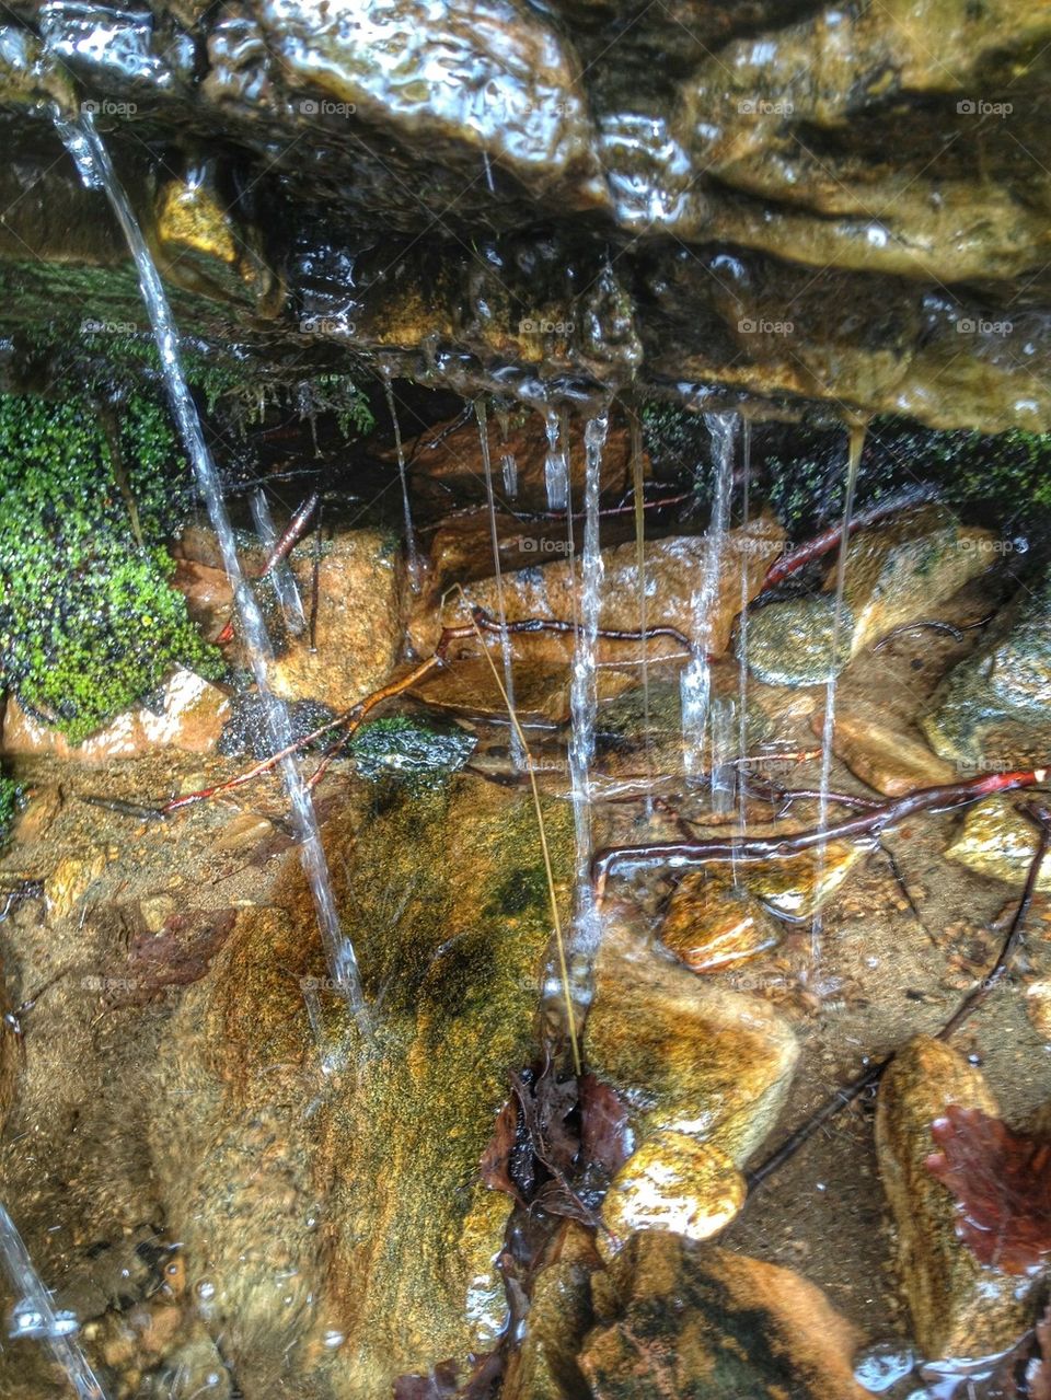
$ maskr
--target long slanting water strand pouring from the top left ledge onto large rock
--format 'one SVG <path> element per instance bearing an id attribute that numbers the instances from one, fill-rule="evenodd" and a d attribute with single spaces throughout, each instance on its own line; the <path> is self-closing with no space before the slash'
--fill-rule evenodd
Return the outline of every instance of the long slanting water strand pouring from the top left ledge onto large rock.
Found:
<path id="1" fill-rule="evenodd" d="M 223 554 L 223 566 L 227 571 L 227 577 L 230 578 L 231 588 L 234 589 L 234 601 L 237 603 L 245 643 L 248 645 L 252 675 L 255 676 L 256 687 L 266 706 L 270 742 L 274 750 L 285 749 L 292 742 L 292 732 L 288 710 L 284 703 L 271 693 L 267 680 L 267 664 L 273 659 L 270 638 L 267 637 L 266 624 L 263 623 L 263 616 L 259 612 L 259 603 L 256 602 L 255 594 L 248 587 L 245 575 L 241 571 L 241 561 L 238 560 L 237 543 L 234 540 L 234 529 L 230 524 L 230 514 L 227 512 L 227 504 L 223 498 L 220 476 L 216 469 L 216 463 L 211 459 L 211 454 L 209 452 L 207 444 L 204 442 L 204 431 L 197 414 L 197 407 L 182 372 L 179 339 L 171 307 L 168 305 L 168 297 L 164 291 L 164 284 L 161 283 L 160 273 L 157 272 L 154 260 L 150 256 L 150 249 L 143 238 L 139 220 L 136 218 L 127 195 L 113 171 L 109 153 L 95 130 L 91 113 L 83 112 L 73 123 L 66 122 L 56 113 L 55 123 L 59 134 L 66 141 L 70 154 L 77 162 L 85 183 L 105 189 L 113 213 L 116 214 L 116 218 L 125 232 L 125 238 L 127 239 L 132 256 L 134 258 L 136 269 L 139 272 L 139 284 L 143 293 L 143 301 L 146 302 L 146 308 L 150 314 L 150 322 L 153 325 L 161 363 L 161 374 L 164 377 L 165 389 L 168 391 L 172 413 L 179 427 L 186 455 L 193 463 L 193 470 L 197 477 L 197 489 L 209 511 L 209 518 L 213 529 L 216 531 Z M 90 157 L 87 167 L 84 165 L 84 154 Z M 350 939 L 340 927 L 336 900 L 332 893 L 332 882 L 329 879 L 329 868 L 325 861 L 325 850 L 318 830 L 318 816 L 313 811 L 313 802 L 311 801 L 306 784 L 295 766 L 295 759 L 291 755 L 281 760 L 281 776 L 288 792 L 295 832 L 299 839 L 299 858 L 302 861 L 302 868 L 318 910 L 318 925 L 320 928 L 320 937 L 329 962 L 329 972 L 332 974 L 333 984 L 340 988 L 347 1005 L 358 1018 L 362 1029 L 365 1029 L 365 1001 L 361 991 L 361 974 L 358 972 L 357 958 Z"/>

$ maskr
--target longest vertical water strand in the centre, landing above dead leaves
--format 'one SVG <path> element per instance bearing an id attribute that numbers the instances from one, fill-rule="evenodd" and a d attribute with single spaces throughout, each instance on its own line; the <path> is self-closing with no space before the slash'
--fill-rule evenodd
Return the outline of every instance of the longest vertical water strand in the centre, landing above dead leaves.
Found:
<path id="1" fill-rule="evenodd" d="M 584 431 L 584 549 L 581 556 L 581 622 L 572 654 L 570 711 L 570 785 L 577 834 L 575 910 L 571 980 L 577 1001 L 589 995 L 591 963 L 598 946 L 599 920 L 591 888 L 591 763 L 595 756 L 595 718 L 598 714 L 596 665 L 599 609 L 602 605 L 602 554 L 599 552 L 599 491 L 602 484 L 602 449 L 606 445 L 609 419 L 602 414 L 588 420 Z"/>

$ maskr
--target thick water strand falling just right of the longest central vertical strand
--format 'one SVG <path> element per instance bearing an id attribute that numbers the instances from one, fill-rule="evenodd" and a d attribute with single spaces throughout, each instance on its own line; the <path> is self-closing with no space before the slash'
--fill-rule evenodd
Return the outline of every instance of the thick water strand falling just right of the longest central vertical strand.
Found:
<path id="1" fill-rule="evenodd" d="M 694 783 L 698 781 L 705 770 L 704 736 L 708 727 L 708 707 L 711 701 L 708 654 L 712 651 L 712 623 L 715 620 L 719 570 L 726 543 L 726 525 L 729 522 L 731 487 L 733 483 L 733 434 L 738 427 L 738 414 L 705 413 L 704 421 L 712 440 L 712 510 L 711 524 L 705 536 L 700 578 L 690 598 L 693 657 L 680 682 L 683 700 L 683 762 L 687 778 Z"/>

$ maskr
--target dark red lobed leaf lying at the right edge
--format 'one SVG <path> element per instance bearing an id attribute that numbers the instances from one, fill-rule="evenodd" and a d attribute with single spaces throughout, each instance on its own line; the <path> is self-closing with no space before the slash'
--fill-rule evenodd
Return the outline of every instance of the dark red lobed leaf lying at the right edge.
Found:
<path id="1" fill-rule="evenodd" d="M 928 1170 L 956 1197 L 956 1232 L 982 1264 L 1027 1274 L 1051 1253 L 1051 1142 L 952 1103 L 931 1124 Z"/>

